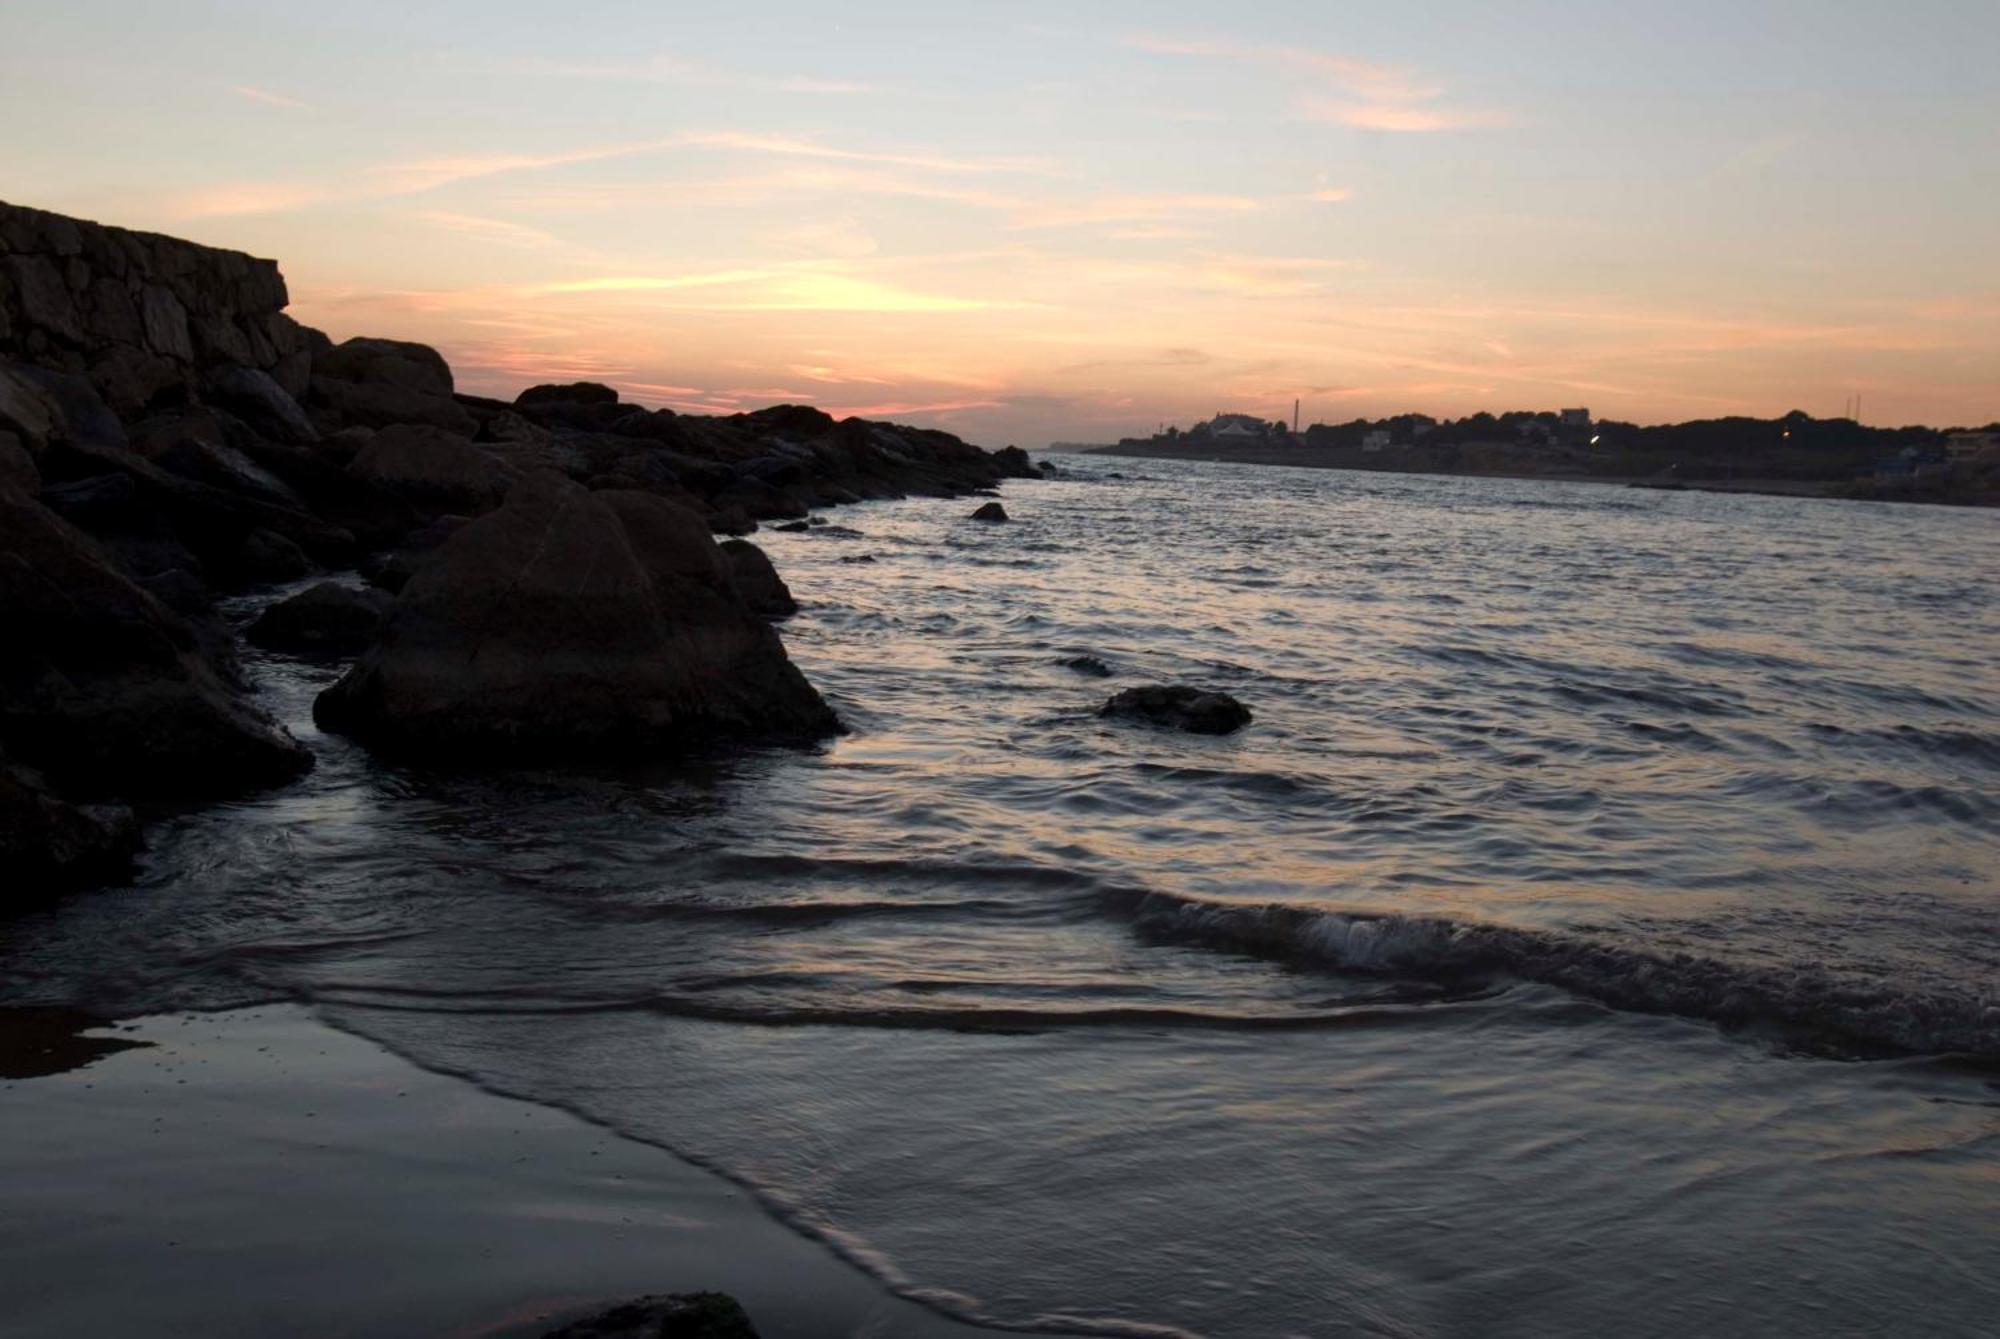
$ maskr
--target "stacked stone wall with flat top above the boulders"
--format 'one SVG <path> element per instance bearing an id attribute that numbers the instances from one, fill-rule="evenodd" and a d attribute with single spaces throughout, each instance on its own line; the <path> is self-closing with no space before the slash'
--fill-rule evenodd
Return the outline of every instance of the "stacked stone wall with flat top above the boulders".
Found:
<path id="1" fill-rule="evenodd" d="M 306 388 L 278 264 L 0 204 L 0 358 L 88 376 L 118 414 L 190 400 L 208 368 Z"/>

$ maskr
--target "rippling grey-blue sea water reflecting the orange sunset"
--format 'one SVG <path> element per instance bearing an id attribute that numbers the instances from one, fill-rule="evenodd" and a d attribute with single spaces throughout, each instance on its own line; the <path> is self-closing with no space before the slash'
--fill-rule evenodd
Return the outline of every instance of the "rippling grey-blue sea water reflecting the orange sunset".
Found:
<path id="1" fill-rule="evenodd" d="M 1066 466 L 758 536 L 818 751 L 382 767 L 254 658 L 320 767 L 0 989 L 310 1001 L 1008 1327 L 1992 1333 L 2000 518 Z"/>

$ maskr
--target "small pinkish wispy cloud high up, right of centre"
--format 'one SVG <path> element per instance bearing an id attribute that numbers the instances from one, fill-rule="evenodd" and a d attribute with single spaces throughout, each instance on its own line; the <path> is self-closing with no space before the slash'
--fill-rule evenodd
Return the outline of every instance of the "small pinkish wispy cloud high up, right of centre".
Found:
<path id="1" fill-rule="evenodd" d="M 1296 110 L 1306 120 L 1330 120 L 1362 130 L 1402 134 L 1508 126 L 1512 118 L 1490 108 L 1452 106 L 1444 86 L 1410 66 L 1358 60 L 1302 46 L 1242 42 L 1126 38 L 1126 46 L 1160 56 L 1198 56 L 1260 64 L 1286 72 L 1300 84 Z M 1332 84 L 1334 92 L 1328 92 Z"/>

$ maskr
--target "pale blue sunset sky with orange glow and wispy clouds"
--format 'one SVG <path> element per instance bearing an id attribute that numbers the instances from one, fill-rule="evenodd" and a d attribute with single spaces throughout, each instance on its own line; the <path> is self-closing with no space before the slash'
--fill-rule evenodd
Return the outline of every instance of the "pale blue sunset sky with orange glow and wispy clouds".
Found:
<path id="1" fill-rule="evenodd" d="M 1984 424 L 1996 68 L 1996 0 L 0 0 L 0 200 L 508 398 Z"/>

